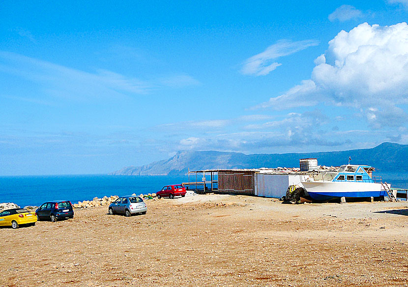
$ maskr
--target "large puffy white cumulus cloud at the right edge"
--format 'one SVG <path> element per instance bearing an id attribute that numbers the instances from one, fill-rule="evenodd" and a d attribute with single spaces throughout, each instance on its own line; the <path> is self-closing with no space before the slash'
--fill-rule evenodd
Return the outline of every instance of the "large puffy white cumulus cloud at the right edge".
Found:
<path id="1" fill-rule="evenodd" d="M 324 60 L 324 61 L 323 61 Z M 357 108 L 371 125 L 392 125 L 389 115 L 406 113 L 408 103 L 408 26 L 370 26 L 363 23 L 341 31 L 316 60 L 311 80 L 257 108 L 290 109 L 318 103 Z"/>

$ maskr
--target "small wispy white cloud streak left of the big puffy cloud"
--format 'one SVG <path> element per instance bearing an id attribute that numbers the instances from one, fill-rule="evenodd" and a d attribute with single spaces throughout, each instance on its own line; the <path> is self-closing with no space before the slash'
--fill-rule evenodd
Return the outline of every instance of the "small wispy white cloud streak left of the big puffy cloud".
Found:
<path id="1" fill-rule="evenodd" d="M 282 65 L 275 62 L 275 59 L 291 55 L 311 46 L 317 46 L 318 44 L 319 42 L 315 40 L 297 42 L 280 40 L 266 48 L 262 53 L 246 59 L 240 72 L 244 75 L 265 76 Z"/>

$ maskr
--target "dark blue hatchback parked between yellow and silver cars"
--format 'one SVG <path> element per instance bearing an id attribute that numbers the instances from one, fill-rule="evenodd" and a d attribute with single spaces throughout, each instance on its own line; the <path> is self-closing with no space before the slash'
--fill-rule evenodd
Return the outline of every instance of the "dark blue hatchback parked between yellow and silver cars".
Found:
<path id="1" fill-rule="evenodd" d="M 51 220 L 56 222 L 62 218 L 74 218 L 71 201 L 48 201 L 35 210 L 37 220 Z"/>

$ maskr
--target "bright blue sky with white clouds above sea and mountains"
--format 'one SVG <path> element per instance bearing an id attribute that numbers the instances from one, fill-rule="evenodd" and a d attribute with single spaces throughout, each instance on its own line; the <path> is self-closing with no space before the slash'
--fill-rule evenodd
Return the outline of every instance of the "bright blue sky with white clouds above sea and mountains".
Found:
<path id="1" fill-rule="evenodd" d="M 0 175 L 408 144 L 408 0 L 1 1 Z"/>

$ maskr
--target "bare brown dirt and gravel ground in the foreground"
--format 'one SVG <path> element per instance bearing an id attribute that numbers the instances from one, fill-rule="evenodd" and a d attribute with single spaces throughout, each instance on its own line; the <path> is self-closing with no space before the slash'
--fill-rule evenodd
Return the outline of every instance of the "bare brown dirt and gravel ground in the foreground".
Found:
<path id="1" fill-rule="evenodd" d="M 408 202 L 232 195 L 0 229 L 0 286 L 408 286 Z"/>

